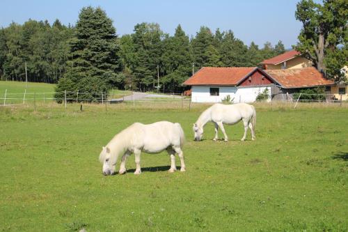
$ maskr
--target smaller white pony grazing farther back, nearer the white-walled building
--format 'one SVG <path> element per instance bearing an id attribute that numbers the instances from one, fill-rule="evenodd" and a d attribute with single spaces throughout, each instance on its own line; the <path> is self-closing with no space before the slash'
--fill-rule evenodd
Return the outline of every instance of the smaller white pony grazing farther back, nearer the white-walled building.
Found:
<path id="1" fill-rule="evenodd" d="M 238 103 L 234 105 L 223 105 L 223 104 L 214 104 L 212 107 L 206 109 L 202 114 L 200 114 L 196 123 L 193 123 L 193 132 L 194 139 L 200 141 L 203 136 L 203 127 L 204 125 L 212 121 L 215 126 L 215 137 L 214 141 L 218 139 L 218 130 L 219 127 L 223 132 L 225 141 L 228 141 L 225 128 L 223 124 L 235 124 L 239 121 L 243 121 L 244 124 L 244 136 L 242 141 L 246 138 L 246 131 L 248 127 L 251 130 L 252 139 L 255 139 L 255 125 L 256 125 L 256 111 L 252 105 L 246 103 Z"/>

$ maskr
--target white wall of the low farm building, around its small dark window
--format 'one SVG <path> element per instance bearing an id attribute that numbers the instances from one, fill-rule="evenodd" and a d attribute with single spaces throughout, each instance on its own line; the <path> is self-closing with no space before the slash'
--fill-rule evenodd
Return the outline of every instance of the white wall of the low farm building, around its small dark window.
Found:
<path id="1" fill-rule="evenodd" d="M 219 88 L 219 96 L 211 96 L 210 88 Z M 259 93 L 270 86 L 253 86 L 253 87 L 235 87 L 235 86 L 192 86 L 191 101 L 192 102 L 221 102 L 227 95 L 230 95 L 233 102 L 254 102 Z"/>

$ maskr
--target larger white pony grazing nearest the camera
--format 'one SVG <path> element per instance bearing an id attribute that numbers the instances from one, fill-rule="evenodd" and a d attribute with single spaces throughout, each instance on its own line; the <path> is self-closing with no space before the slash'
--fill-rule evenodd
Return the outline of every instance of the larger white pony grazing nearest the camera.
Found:
<path id="1" fill-rule="evenodd" d="M 184 154 L 182 153 L 183 144 L 184 131 L 179 123 L 167 121 L 148 125 L 134 123 L 116 134 L 109 141 L 109 144 L 103 147 L 99 157 L 100 162 L 103 164 L 103 174 L 115 174 L 119 155 L 122 155 L 119 173 L 125 173 L 126 159 L 132 153 L 135 155 L 136 163 L 134 174 L 140 174 L 140 154 L 142 150 L 146 153 L 160 153 L 162 150 L 167 150 L 168 154 L 171 155 L 171 169 L 169 169 L 169 172 L 176 171 L 175 153 L 177 153 L 181 162 L 180 171 L 185 171 Z"/>

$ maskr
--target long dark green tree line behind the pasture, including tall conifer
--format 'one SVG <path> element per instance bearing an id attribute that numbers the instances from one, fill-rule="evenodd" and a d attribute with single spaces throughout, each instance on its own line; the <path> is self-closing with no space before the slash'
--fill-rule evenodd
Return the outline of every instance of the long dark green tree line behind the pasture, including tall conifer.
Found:
<path id="1" fill-rule="evenodd" d="M 28 20 L 0 29 L 1 79 L 24 81 L 26 64 L 29 82 L 65 78 L 90 83 L 97 76 L 105 83 L 95 91 L 110 86 L 153 90 L 157 75 L 161 90 L 179 91 L 203 66 L 256 66 L 283 52 L 281 41 L 260 49 L 254 42 L 245 45 L 232 31 L 213 32 L 207 26 L 189 38 L 180 24 L 171 36 L 159 24 L 143 22 L 134 26 L 134 33 L 117 36 L 104 10 L 92 7 L 81 10 L 74 26 Z"/>

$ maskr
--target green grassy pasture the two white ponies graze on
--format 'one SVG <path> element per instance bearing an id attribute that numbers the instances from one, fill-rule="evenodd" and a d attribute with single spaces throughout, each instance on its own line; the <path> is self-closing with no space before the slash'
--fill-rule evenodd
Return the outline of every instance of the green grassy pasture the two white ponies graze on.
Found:
<path id="1" fill-rule="evenodd" d="M 192 141 L 203 107 L 0 107 L 0 231 L 347 231 L 347 108 L 257 106 L 256 140 Z M 102 176 L 98 155 L 140 121 L 182 124 L 187 172 L 166 153 Z M 222 138 L 222 134 L 219 134 Z M 119 165 L 119 162 L 118 162 Z M 177 159 L 177 165 L 180 165 Z"/>

